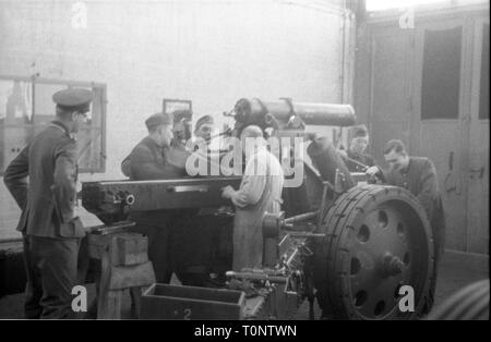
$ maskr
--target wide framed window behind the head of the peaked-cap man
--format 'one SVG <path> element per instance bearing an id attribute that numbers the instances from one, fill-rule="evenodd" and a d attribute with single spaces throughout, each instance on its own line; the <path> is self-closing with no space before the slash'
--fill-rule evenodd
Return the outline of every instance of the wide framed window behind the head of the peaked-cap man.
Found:
<path id="1" fill-rule="evenodd" d="M 79 170 L 105 171 L 105 85 L 0 75 L 0 175 L 31 139 L 55 120 L 52 94 L 70 86 L 94 93 L 89 120 L 76 136 Z"/>

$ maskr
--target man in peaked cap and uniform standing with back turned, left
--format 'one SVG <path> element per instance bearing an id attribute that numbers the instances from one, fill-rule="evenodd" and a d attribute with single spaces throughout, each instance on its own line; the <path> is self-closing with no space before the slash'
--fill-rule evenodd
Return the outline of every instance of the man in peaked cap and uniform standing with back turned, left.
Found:
<path id="1" fill-rule="evenodd" d="M 9 164 L 4 183 L 22 209 L 26 318 L 71 316 L 82 222 L 75 217 L 77 151 L 73 134 L 86 121 L 93 99 L 86 89 L 52 96 L 56 120 Z M 28 183 L 26 178 L 28 176 Z"/>

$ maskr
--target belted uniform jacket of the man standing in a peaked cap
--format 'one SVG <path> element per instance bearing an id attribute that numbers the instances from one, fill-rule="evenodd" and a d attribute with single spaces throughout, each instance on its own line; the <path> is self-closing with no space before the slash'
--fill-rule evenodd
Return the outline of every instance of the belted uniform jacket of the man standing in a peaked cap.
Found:
<path id="1" fill-rule="evenodd" d="M 76 156 L 68 129 L 53 121 L 9 164 L 3 181 L 22 209 L 19 231 L 44 237 L 85 234 L 74 218 Z"/>

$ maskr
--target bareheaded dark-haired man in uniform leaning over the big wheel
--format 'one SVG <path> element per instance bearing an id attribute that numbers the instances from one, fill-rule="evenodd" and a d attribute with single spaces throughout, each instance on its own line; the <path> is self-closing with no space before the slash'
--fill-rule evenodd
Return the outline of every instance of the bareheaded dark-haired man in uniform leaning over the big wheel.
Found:
<path id="1" fill-rule="evenodd" d="M 439 193 L 436 170 L 433 162 L 428 158 L 409 157 L 406 152 L 406 147 L 400 141 L 387 142 L 383 152 L 390 170 L 383 171 L 378 167 L 372 167 L 367 170 L 367 173 L 375 175 L 382 172 L 387 184 L 407 188 L 412 195 L 418 197 L 430 220 L 435 257 L 434 272 L 422 312 L 428 314 L 434 301 L 436 270 L 439 260 L 443 255 L 445 241 L 445 216 Z"/>

